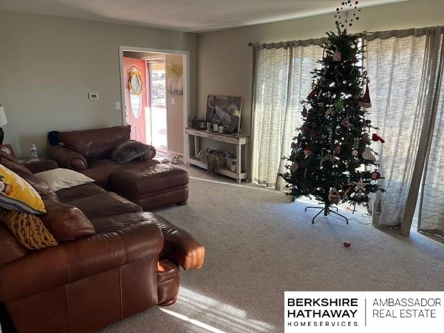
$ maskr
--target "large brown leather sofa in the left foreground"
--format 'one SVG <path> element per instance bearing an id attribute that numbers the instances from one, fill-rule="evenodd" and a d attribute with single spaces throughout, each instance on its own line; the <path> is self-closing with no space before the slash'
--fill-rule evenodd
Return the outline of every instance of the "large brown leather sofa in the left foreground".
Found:
<path id="1" fill-rule="evenodd" d="M 65 167 L 84 162 L 70 156 Z M 42 221 L 59 241 L 27 250 L 0 222 L 0 302 L 18 332 L 93 332 L 173 304 L 178 265 L 202 266 L 204 247 L 162 217 L 94 183 L 54 193 L 33 176 L 56 162 L 26 168 L 0 153 L 0 163 L 37 189 L 47 210 Z"/>

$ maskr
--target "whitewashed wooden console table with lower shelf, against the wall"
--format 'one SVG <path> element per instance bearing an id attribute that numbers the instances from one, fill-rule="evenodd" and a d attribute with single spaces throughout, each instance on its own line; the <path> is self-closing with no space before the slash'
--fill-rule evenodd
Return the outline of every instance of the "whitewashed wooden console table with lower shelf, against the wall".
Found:
<path id="1" fill-rule="evenodd" d="M 233 172 L 226 167 L 219 168 L 218 173 L 223 176 L 234 178 L 237 182 L 243 179 L 248 179 L 248 144 L 250 144 L 250 137 L 245 135 L 230 135 L 215 132 L 207 132 L 206 130 L 195 130 L 194 128 L 185 128 L 187 133 L 188 158 L 187 163 L 196 165 L 197 167 L 207 169 L 207 164 L 201 162 L 196 158 L 199 153 L 199 137 L 210 139 L 217 142 L 225 142 L 225 144 L 234 144 L 236 146 L 236 171 Z M 191 144 L 194 145 L 191 146 Z M 194 149 L 191 149 L 194 148 Z M 244 170 L 242 169 L 242 149 L 244 149 Z"/>

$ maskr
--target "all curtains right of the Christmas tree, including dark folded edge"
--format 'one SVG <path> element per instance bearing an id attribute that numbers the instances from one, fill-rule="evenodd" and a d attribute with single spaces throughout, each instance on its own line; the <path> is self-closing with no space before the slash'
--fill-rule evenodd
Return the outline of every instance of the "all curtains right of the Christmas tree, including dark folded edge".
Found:
<path id="1" fill-rule="evenodd" d="M 373 224 L 400 223 L 406 236 L 418 196 L 418 230 L 444 232 L 443 32 L 434 27 L 375 33 L 367 43 L 370 119 L 386 140 L 379 169 L 387 191 L 375 196 Z"/>

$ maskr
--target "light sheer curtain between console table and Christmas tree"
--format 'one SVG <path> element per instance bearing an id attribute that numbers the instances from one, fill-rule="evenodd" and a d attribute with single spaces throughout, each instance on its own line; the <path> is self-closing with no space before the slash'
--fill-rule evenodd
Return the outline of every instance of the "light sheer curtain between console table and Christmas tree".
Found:
<path id="1" fill-rule="evenodd" d="M 310 72 L 323 56 L 321 41 L 256 51 L 251 163 L 254 182 L 284 189 L 284 181 L 278 178 L 278 173 L 284 172 L 282 156 L 289 155 L 291 139 L 302 125 L 300 101 L 307 98 Z"/>

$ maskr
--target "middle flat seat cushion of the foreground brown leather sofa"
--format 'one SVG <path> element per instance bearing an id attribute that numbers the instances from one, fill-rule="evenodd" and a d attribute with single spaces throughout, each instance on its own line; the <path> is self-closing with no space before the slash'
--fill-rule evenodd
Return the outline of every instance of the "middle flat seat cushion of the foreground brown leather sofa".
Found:
<path id="1" fill-rule="evenodd" d="M 78 207 L 89 219 L 142 212 L 142 207 L 114 192 L 95 194 L 87 198 L 69 201 L 67 204 Z"/>

